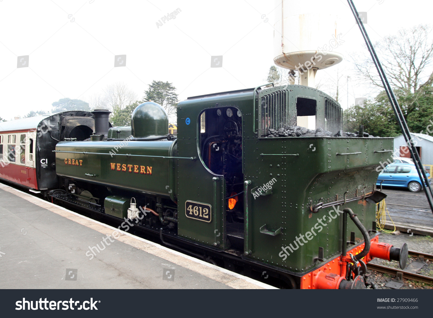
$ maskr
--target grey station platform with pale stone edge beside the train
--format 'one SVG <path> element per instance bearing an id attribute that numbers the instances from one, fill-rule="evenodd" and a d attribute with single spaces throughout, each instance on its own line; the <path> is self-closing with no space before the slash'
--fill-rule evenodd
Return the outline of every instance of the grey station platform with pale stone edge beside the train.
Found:
<path id="1" fill-rule="evenodd" d="M 275 289 L 0 183 L 0 289 Z"/>

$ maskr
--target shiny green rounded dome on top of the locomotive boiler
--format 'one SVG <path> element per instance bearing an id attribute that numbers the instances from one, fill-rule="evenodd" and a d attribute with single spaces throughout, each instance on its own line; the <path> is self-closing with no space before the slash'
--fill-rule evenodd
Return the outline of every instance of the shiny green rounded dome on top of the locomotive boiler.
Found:
<path id="1" fill-rule="evenodd" d="M 146 138 L 168 134 L 168 116 L 161 105 L 154 102 L 140 104 L 132 112 L 132 136 Z"/>

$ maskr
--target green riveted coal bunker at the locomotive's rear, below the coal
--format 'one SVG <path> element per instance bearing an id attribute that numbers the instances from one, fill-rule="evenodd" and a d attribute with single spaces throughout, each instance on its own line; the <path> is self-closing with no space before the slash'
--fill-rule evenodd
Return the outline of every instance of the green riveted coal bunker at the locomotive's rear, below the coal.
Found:
<path id="1" fill-rule="evenodd" d="M 378 172 L 375 168 L 378 162 L 385 162 L 389 155 L 375 153 L 381 149 L 392 146 L 392 138 L 265 138 L 259 140 L 245 140 L 244 149 L 255 149 L 245 154 L 245 178 L 251 180 L 252 187 L 260 186 L 272 178 L 277 182 L 272 185 L 272 195 L 258 196 L 248 193 L 249 198 L 249 234 L 252 237 L 250 249 L 252 259 L 278 266 L 293 272 L 302 273 L 321 264 L 315 261 L 319 247 L 324 248 L 325 259 L 341 253 L 342 224 L 341 216 L 331 219 L 328 214 L 332 207 L 322 209 L 317 214 L 310 214 L 310 201 L 313 204 L 336 201 L 362 194 L 364 187 L 367 193 L 375 188 Z M 313 144 L 313 152 L 309 147 Z M 260 156 L 260 153 L 270 153 L 275 149 L 299 156 Z M 343 151 L 356 152 L 362 149 L 357 156 L 336 156 Z M 255 154 L 254 154 L 255 153 Z M 375 204 L 365 200 L 346 202 L 343 208 L 352 208 L 359 219 L 370 230 L 375 221 Z M 325 217 L 320 224 L 317 218 Z M 263 224 L 271 229 L 282 228 L 281 235 L 271 237 L 260 233 Z M 322 227 L 318 232 L 316 228 Z M 348 232 L 356 233 L 358 241 L 362 235 L 354 224 L 347 224 Z M 306 235 L 313 229 L 316 235 L 305 243 L 301 235 Z M 303 244 L 301 246 L 301 243 Z M 296 241 L 296 243 L 294 243 Z M 292 244 L 293 253 L 289 256 L 284 253 L 283 247 Z M 295 250 L 296 249 L 296 250 Z M 283 260 L 280 255 L 286 255 Z"/>

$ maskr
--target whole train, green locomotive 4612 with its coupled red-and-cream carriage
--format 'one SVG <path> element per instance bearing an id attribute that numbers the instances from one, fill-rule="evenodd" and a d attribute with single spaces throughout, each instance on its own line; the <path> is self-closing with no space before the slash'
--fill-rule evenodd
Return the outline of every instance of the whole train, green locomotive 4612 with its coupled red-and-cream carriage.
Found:
<path id="1" fill-rule="evenodd" d="M 262 85 L 189 97 L 177 106 L 177 136 L 153 102 L 136 107 L 131 127 L 110 127 L 108 114 L 55 114 L 37 134 L 41 121 L 22 150 L 34 155 L 30 179 L 4 167 L 0 177 L 279 287 L 374 288 L 365 275 L 374 257 L 405 266 L 407 245 L 379 243 L 375 224 L 386 196 L 375 168 L 392 138 L 342 134 L 342 108 L 329 95 Z M 317 130 L 297 126 L 307 117 Z M 4 150 L 15 134 L 19 152 L 19 122 L 0 127 Z"/>

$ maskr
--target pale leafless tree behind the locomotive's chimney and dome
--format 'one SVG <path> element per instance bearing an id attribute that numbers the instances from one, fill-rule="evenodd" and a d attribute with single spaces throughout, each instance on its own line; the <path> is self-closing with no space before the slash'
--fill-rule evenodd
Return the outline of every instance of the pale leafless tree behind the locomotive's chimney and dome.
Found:
<path id="1" fill-rule="evenodd" d="M 113 116 L 123 110 L 126 106 L 137 101 L 137 94 L 130 90 L 128 86 L 122 82 L 116 82 L 107 85 L 103 89 L 104 102 L 113 111 Z"/>

